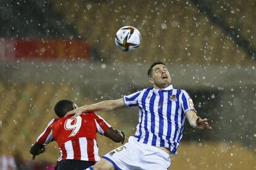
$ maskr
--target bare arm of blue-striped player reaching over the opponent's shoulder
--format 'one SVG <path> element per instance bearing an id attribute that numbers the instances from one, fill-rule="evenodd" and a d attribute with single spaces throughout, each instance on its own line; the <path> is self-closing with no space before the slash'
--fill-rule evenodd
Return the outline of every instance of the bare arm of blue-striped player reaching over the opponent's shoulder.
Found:
<path id="1" fill-rule="evenodd" d="M 66 116 L 74 115 L 72 118 L 79 116 L 83 112 L 96 112 L 96 111 L 113 111 L 120 108 L 125 108 L 123 98 L 118 100 L 105 100 L 99 103 L 85 105 L 80 108 L 69 111 Z"/>

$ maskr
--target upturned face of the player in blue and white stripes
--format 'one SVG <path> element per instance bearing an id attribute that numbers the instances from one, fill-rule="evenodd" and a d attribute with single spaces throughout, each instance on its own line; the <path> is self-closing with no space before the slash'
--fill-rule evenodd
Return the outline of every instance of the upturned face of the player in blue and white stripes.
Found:
<path id="1" fill-rule="evenodd" d="M 152 76 L 150 78 L 150 83 L 156 89 L 163 90 L 171 84 L 171 75 L 166 66 L 163 64 L 158 64 L 152 69 Z"/>

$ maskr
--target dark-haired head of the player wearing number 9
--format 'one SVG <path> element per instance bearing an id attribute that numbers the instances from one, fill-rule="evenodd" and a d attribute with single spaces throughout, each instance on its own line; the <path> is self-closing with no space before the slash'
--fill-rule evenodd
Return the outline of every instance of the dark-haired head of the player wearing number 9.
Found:
<path id="1" fill-rule="evenodd" d="M 58 117 L 64 117 L 68 111 L 72 111 L 77 108 L 77 104 L 70 100 L 60 100 L 54 106 L 54 111 Z"/>

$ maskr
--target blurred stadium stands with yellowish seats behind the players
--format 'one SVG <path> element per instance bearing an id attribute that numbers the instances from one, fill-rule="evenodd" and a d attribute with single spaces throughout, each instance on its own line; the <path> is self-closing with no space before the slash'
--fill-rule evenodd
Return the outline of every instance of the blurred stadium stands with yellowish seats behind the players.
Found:
<path id="1" fill-rule="evenodd" d="M 154 61 L 168 65 L 174 87 L 189 91 L 213 127 L 186 122 L 169 169 L 256 169 L 254 0 L 7 0 L 0 8 L 0 155 L 14 156 L 17 169 L 46 169 L 59 157 L 56 143 L 33 163 L 29 153 L 58 100 L 121 98 L 150 86 Z M 114 45 L 124 25 L 142 34 L 132 53 Z M 134 134 L 137 109 L 99 114 Z M 119 144 L 99 136 L 98 146 L 103 156 Z"/>

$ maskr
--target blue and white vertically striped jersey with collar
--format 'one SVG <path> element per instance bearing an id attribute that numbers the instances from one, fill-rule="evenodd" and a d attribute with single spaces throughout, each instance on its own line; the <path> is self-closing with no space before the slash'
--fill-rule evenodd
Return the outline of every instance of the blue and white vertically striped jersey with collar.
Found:
<path id="1" fill-rule="evenodd" d="M 124 96 L 128 108 L 139 106 L 139 124 L 134 137 L 138 142 L 155 147 L 166 147 L 177 153 L 185 113 L 194 110 L 194 104 L 185 90 L 169 85 L 164 90 L 145 88 L 129 96 Z"/>

